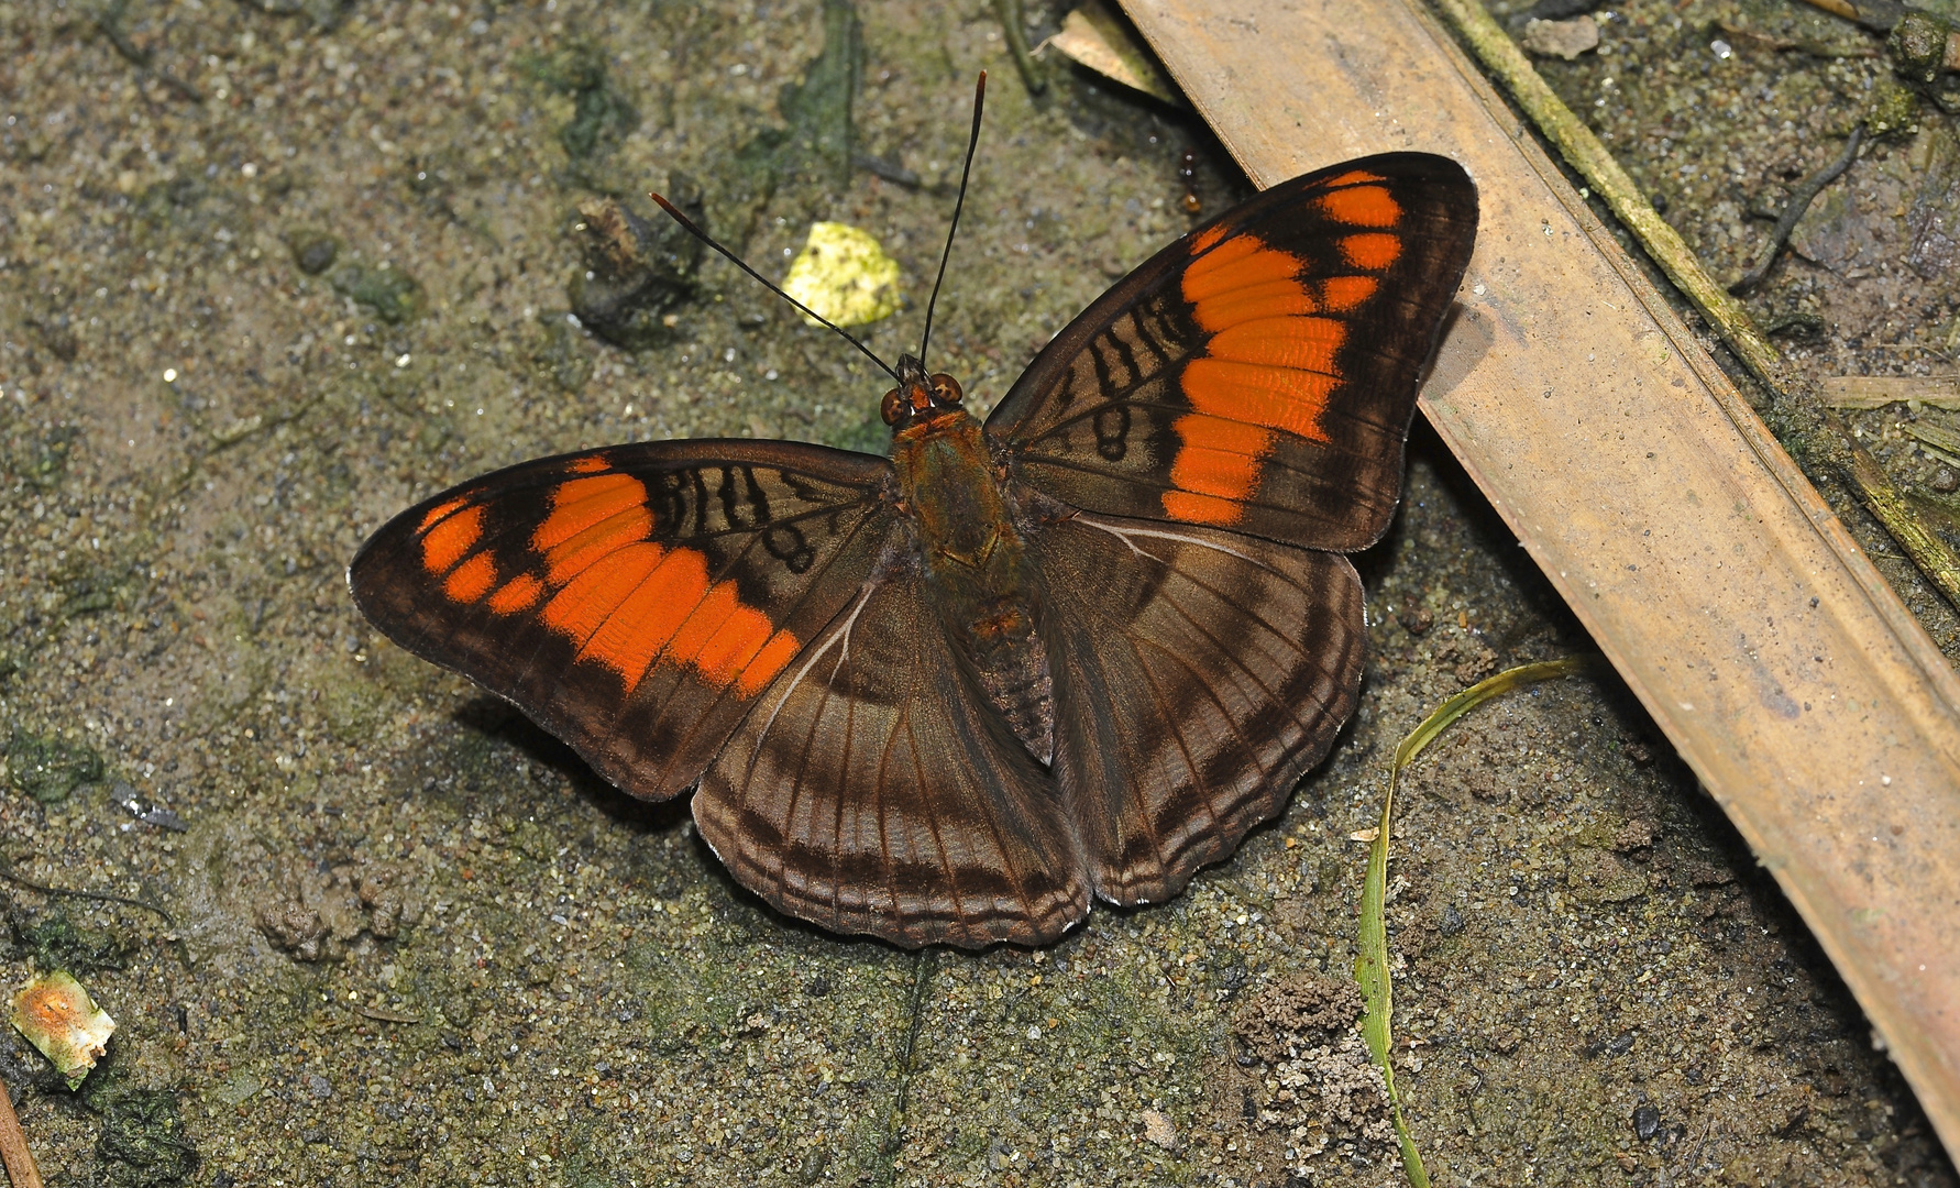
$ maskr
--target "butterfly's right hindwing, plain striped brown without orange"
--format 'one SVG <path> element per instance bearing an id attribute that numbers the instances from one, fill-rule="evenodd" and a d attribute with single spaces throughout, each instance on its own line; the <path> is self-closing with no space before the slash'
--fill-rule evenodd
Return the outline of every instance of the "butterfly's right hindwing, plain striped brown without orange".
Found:
<path id="1" fill-rule="evenodd" d="M 1327 755 L 1360 688 L 1360 578 L 1333 553 L 1096 514 L 1029 547 L 1092 886 L 1162 902 Z"/>

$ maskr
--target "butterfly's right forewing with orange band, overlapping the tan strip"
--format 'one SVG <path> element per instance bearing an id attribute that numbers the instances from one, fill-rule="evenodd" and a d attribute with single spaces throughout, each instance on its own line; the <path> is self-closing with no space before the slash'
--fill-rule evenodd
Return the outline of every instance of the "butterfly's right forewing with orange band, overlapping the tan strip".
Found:
<path id="1" fill-rule="evenodd" d="M 1427 153 L 1278 184 L 1076 318 L 988 435 L 1076 508 L 1366 547 L 1476 222 L 1468 174 Z"/>

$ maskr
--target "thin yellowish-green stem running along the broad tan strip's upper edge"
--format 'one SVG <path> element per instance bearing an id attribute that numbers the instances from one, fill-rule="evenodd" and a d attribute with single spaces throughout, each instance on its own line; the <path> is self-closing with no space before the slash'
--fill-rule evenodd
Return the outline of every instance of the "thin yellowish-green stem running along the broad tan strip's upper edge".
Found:
<path id="1" fill-rule="evenodd" d="M 1476 0 L 1435 0 L 1435 4 L 1470 47 L 1470 53 L 1511 92 L 1525 116 L 1544 139 L 1556 145 L 1566 163 L 1586 178 L 1586 184 L 1605 198 L 1619 222 L 1633 231 L 1646 255 L 1668 274 L 1668 280 L 1707 318 L 1742 367 L 1778 400 L 1793 402 L 1791 394 L 1803 390 L 1801 382 L 1782 353 L 1756 327 L 1748 310 L 1701 269 L 1680 233 L 1654 212 L 1619 161 L 1599 143 L 1599 137 L 1572 114 L 1564 100 L 1552 94 L 1552 88 L 1544 84 L 1539 71 L 1490 12 Z M 1835 461 L 1856 488 L 1858 500 L 1886 525 L 1886 531 L 1905 549 L 1919 572 L 1960 608 L 1960 557 L 1925 525 L 1899 488 L 1891 484 L 1884 467 L 1835 412 L 1813 400 L 1805 400 L 1801 408 L 1815 410 L 1817 420 L 1837 437 L 1838 457 Z"/>

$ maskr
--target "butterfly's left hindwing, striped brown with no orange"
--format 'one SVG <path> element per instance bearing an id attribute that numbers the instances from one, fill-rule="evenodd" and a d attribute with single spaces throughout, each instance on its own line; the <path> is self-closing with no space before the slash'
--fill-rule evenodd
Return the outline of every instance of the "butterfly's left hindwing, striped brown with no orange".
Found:
<path id="1" fill-rule="evenodd" d="M 1054 780 L 982 696 L 907 537 L 762 692 L 694 819 L 764 900 L 898 945 L 1037 945 L 1088 914 Z"/>

